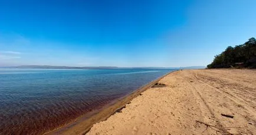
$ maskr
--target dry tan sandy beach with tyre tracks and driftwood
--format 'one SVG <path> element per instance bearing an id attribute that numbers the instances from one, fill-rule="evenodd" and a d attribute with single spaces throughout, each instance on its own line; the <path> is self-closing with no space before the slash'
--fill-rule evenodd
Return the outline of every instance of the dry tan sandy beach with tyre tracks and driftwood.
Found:
<path id="1" fill-rule="evenodd" d="M 159 82 L 167 86 L 147 89 L 87 134 L 256 134 L 256 70 L 179 70 Z"/>

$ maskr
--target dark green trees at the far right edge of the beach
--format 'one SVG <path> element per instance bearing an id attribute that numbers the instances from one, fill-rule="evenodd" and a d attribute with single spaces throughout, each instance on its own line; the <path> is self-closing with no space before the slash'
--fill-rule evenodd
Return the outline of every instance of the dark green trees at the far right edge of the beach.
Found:
<path id="1" fill-rule="evenodd" d="M 213 62 L 207 65 L 212 68 L 249 67 L 256 68 L 256 39 L 250 38 L 234 48 L 228 46 L 224 52 L 216 55 Z"/>

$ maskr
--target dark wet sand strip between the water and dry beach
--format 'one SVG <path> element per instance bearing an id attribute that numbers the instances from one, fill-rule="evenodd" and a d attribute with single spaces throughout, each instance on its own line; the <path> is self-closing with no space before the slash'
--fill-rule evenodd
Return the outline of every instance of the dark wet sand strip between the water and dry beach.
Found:
<path id="1" fill-rule="evenodd" d="M 135 97 L 139 96 L 140 93 L 145 92 L 145 90 L 155 85 L 155 83 L 159 82 L 159 80 L 163 79 L 163 77 L 168 76 L 170 73 L 176 71 L 177 70 L 172 70 L 171 72 L 158 77 L 157 79 L 147 83 L 139 89 L 134 90 L 132 93 L 120 97 L 119 99 L 113 100 L 113 102 L 106 104 L 106 106 L 102 107 L 101 109 L 84 114 L 75 119 L 73 122 L 67 123 L 64 126 L 58 127 L 57 129 L 48 131 L 44 134 L 86 134 L 88 131 L 90 131 L 91 127 L 93 127 L 93 124 L 107 120 L 111 115 L 122 110 L 127 103 L 129 103 Z"/>

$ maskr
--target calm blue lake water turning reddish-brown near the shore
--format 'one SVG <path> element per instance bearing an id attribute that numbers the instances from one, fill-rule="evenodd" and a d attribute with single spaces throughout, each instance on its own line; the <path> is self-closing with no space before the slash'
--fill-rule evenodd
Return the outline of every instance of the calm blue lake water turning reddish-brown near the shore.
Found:
<path id="1" fill-rule="evenodd" d="M 0 69 L 0 134 L 43 134 L 170 71 Z"/>

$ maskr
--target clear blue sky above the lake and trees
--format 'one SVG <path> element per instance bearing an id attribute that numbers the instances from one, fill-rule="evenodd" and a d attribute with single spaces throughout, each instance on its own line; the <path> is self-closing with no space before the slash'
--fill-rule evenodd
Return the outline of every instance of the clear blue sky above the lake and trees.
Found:
<path id="1" fill-rule="evenodd" d="M 255 37 L 255 5 L 0 0 L 0 66 L 206 66 L 227 46 Z"/>

